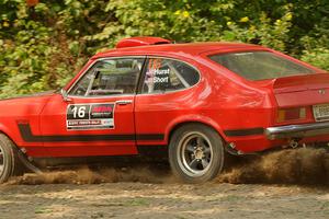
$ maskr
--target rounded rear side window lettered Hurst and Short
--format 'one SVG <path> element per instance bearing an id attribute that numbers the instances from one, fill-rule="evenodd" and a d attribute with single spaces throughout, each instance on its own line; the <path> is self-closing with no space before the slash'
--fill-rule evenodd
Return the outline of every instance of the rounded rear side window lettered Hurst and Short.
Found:
<path id="1" fill-rule="evenodd" d="M 141 93 L 163 93 L 190 88 L 200 80 L 197 70 L 190 65 L 166 58 L 150 58 Z"/>

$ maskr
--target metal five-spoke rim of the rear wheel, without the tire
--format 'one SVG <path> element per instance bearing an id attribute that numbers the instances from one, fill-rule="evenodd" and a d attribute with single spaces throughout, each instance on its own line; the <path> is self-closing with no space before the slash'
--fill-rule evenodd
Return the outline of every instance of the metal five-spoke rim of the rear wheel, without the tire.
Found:
<path id="1" fill-rule="evenodd" d="M 205 174 L 213 162 L 213 146 L 202 132 L 191 131 L 179 141 L 178 162 L 182 171 L 190 176 Z"/>

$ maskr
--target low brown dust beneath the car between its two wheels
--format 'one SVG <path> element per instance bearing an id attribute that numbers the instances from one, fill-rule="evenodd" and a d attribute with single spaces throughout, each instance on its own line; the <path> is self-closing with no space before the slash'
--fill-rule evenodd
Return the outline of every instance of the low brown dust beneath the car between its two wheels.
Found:
<path id="1" fill-rule="evenodd" d="M 140 182 L 162 184 L 174 182 L 168 171 L 155 171 L 150 166 L 135 168 L 88 168 L 75 170 L 57 170 L 42 174 L 26 173 L 9 181 L 10 185 L 41 185 L 41 184 L 101 184 L 118 182 Z"/>

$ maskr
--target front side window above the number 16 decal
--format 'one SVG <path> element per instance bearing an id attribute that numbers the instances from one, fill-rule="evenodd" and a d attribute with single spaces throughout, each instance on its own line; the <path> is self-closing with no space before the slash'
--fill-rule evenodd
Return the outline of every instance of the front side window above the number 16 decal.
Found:
<path id="1" fill-rule="evenodd" d="M 143 58 L 99 60 L 75 84 L 69 94 L 75 96 L 134 94 L 143 62 Z"/>

